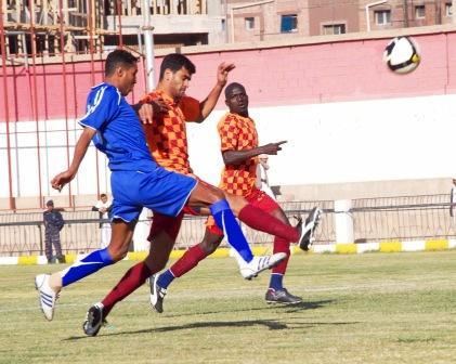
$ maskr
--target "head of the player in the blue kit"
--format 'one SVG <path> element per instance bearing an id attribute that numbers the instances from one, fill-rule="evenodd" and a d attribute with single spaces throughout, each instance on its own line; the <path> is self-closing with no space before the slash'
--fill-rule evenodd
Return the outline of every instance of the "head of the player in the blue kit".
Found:
<path id="1" fill-rule="evenodd" d="M 106 80 L 117 87 L 126 96 L 136 83 L 138 58 L 130 52 L 115 50 L 107 55 L 105 63 Z"/>

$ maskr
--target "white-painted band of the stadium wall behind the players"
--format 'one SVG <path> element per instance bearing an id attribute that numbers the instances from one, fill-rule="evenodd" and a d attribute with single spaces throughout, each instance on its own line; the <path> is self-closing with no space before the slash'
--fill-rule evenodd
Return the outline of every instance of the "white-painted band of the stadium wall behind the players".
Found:
<path id="1" fill-rule="evenodd" d="M 257 121 L 260 143 L 288 141 L 277 156 L 270 158 L 271 184 L 328 184 L 455 176 L 455 105 L 456 94 L 452 94 L 252 107 L 250 115 Z M 216 110 L 201 125 L 187 123 L 191 164 L 200 178 L 214 184 L 222 168 L 217 122 L 223 114 Z M 47 195 L 57 195 L 50 188 L 49 180 L 66 166 L 63 123 L 53 121 L 53 130 L 48 130 L 40 141 Z M 22 197 L 35 196 L 39 183 L 36 139 L 35 133 L 27 133 L 27 127 L 32 130 L 35 125 L 18 125 L 21 138 L 17 148 L 12 140 L 12 157 L 27 178 L 18 181 L 16 170 L 13 171 L 14 194 L 21 191 Z M 71 145 L 77 134 L 71 133 Z M 73 155 L 73 147 L 69 154 Z M 96 156 L 101 186 L 108 191 L 106 160 L 91 147 L 73 182 L 73 194 L 96 194 Z M 1 164 L 6 165 L 5 153 Z M 5 178 L 6 173 L 2 173 L 1 197 L 8 197 Z"/>

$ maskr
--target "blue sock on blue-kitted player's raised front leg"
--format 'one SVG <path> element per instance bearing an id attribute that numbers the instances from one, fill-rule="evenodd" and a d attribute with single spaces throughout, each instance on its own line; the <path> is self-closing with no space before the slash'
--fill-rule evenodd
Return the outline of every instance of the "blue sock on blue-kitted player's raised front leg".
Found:
<path id="1" fill-rule="evenodd" d="M 217 226 L 223 231 L 230 245 L 236 249 L 247 263 L 250 262 L 253 259 L 253 255 L 226 199 L 221 199 L 209 208 Z"/>

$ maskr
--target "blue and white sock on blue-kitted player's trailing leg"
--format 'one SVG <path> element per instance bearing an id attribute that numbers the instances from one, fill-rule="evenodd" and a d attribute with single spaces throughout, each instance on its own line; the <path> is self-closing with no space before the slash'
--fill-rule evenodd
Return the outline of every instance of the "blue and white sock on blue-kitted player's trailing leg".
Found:
<path id="1" fill-rule="evenodd" d="M 113 258 L 110 258 L 107 248 L 92 251 L 84 259 L 75 262 L 63 271 L 62 284 L 65 287 L 113 263 Z"/>

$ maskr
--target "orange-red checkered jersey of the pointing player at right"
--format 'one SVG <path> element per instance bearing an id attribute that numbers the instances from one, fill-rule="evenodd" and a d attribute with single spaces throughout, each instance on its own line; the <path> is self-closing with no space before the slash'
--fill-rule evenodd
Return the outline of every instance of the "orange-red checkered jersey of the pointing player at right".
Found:
<path id="1" fill-rule="evenodd" d="M 244 151 L 258 146 L 258 133 L 249 117 L 225 114 L 217 129 L 220 134 L 222 153 Z M 229 193 L 247 196 L 256 188 L 258 158 L 250 158 L 239 165 L 225 166 L 222 170 L 220 187 Z"/>

